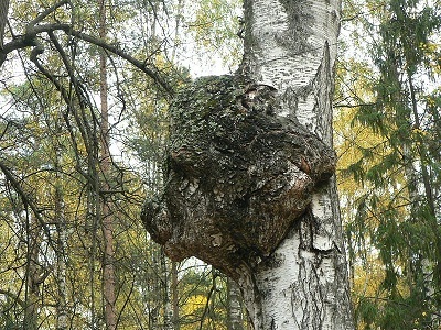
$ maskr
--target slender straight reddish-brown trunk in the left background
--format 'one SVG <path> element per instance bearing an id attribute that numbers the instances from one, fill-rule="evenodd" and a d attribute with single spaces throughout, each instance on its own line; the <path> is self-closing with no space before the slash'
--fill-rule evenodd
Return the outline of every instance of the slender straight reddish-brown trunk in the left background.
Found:
<path id="1" fill-rule="evenodd" d="M 105 0 L 99 0 L 99 37 L 106 38 L 106 4 Z M 101 51 L 99 55 L 99 80 L 100 80 L 100 101 L 101 101 L 101 127 L 100 127 L 100 165 L 103 173 L 101 190 L 108 191 L 108 179 L 110 176 L 110 151 L 109 151 L 109 113 L 108 113 L 108 95 L 107 95 L 107 64 L 106 53 Z M 107 330 L 115 330 L 117 327 L 117 314 L 115 309 L 115 263 L 114 263 L 114 216 L 111 213 L 109 201 L 106 194 L 101 199 L 101 220 L 103 220 L 103 238 L 104 238 L 104 311 Z"/>

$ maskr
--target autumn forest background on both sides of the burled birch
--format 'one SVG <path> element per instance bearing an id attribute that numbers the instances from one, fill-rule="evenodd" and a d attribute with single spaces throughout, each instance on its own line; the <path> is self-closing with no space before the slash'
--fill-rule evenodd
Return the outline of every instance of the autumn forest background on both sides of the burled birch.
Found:
<path id="1" fill-rule="evenodd" d="M 236 285 L 170 262 L 139 217 L 173 91 L 240 62 L 240 7 L 10 1 L 0 46 L 40 32 L 0 57 L 1 329 L 249 327 Z M 441 323 L 440 29 L 440 1 L 343 1 L 334 144 L 358 329 Z"/>

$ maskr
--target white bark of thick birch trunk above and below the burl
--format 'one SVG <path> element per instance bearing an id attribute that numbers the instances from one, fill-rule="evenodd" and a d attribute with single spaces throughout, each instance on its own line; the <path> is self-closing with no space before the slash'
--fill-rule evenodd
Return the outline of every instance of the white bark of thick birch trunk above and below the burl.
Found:
<path id="1" fill-rule="evenodd" d="M 278 89 L 282 117 L 332 145 L 340 0 L 246 0 L 241 72 Z M 238 284 L 255 329 L 354 329 L 335 179 Z"/>

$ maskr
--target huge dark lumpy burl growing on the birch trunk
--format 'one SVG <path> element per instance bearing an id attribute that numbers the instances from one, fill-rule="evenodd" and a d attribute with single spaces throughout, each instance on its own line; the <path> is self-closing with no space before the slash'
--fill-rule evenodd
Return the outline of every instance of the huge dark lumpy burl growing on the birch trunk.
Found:
<path id="1" fill-rule="evenodd" d="M 200 78 L 175 97 L 163 195 L 141 216 L 172 260 L 194 255 L 237 278 L 334 173 L 334 152 L 278 107 L 273 88 L 234 76 Z"/>

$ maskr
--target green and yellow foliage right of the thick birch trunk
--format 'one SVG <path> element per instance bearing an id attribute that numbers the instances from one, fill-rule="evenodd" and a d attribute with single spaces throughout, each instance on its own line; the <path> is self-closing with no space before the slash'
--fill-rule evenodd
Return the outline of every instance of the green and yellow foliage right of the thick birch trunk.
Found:
<path id="1" fill-rule="evenodd" d="M 347 15 L 355 18 L 348 24 L 358 31 L 354 42 L 369 54 L 341 59 L 346 85 L 336 94 L 340 188 L 354 280 L 367 276 L 370 257 L 380 262 L 369 294 L 354 286 L 359 329 L 440 323 L 441 173 L 434 144 L 441 108 L 433 61 L 441 54 L 440 10 L 417 0 L 346 2 Z M 361 35 L 372 38 L 363 43 Z M 356 133 L 341 120 L 351 121 Z"/>

